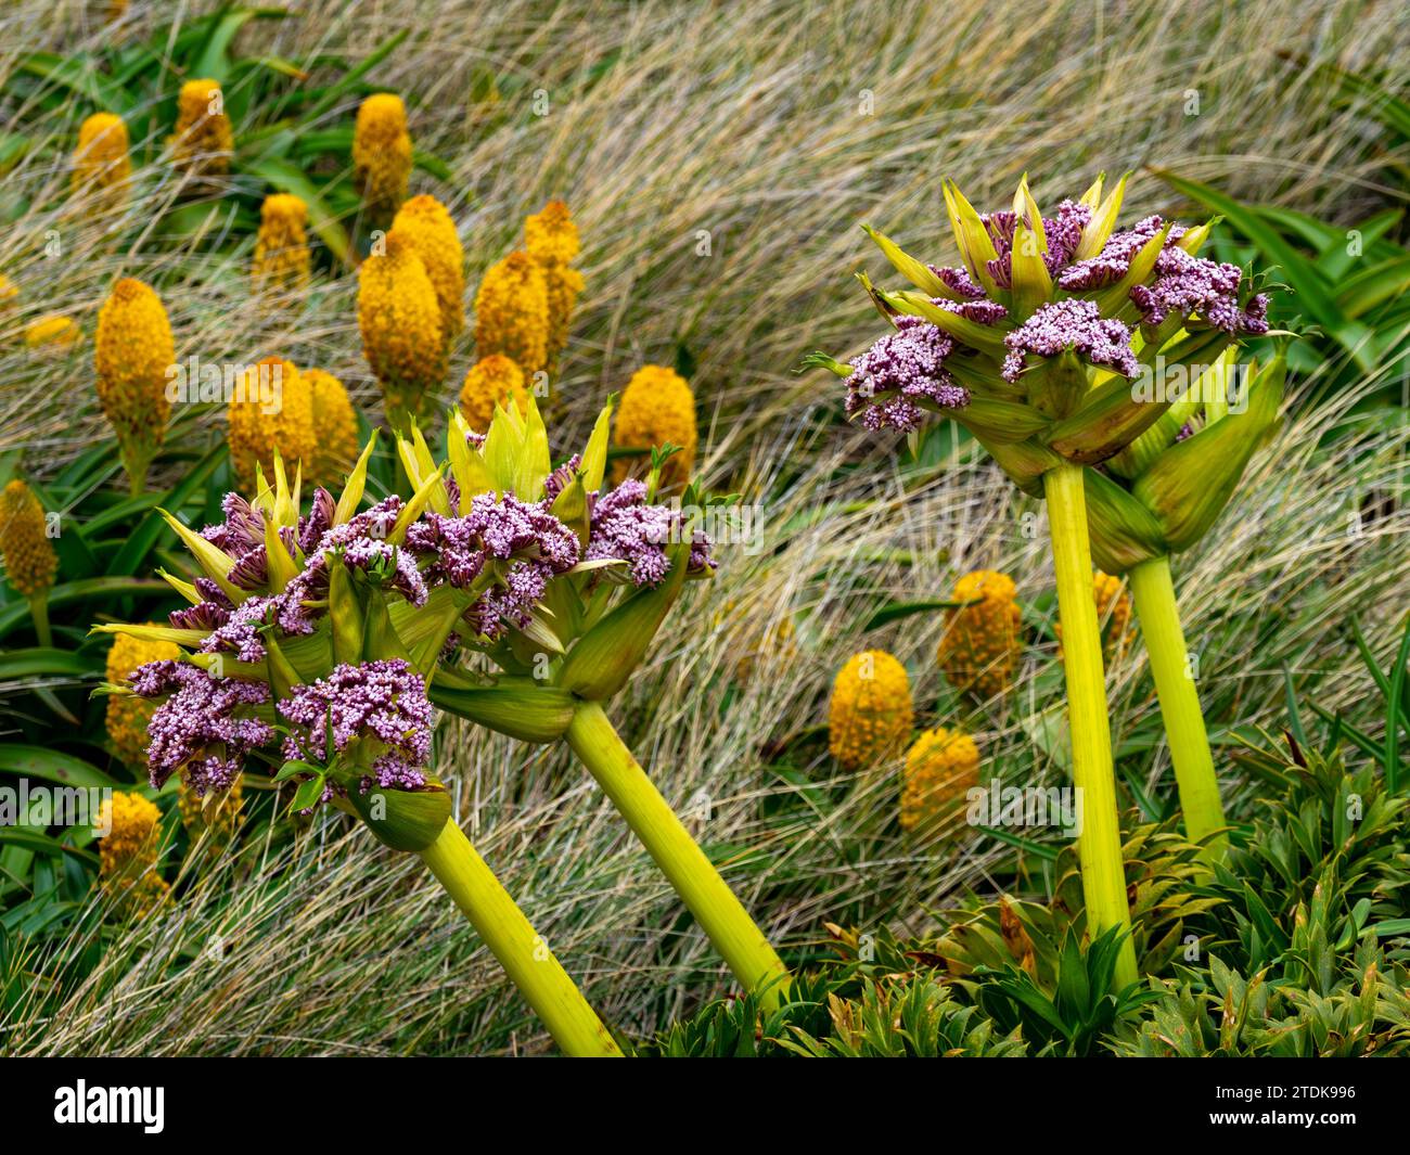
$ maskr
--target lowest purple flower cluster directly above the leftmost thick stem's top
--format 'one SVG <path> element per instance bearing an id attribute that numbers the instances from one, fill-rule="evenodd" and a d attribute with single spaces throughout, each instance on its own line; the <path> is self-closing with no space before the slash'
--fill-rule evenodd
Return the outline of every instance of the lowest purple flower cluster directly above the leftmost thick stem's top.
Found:
<path id="1" fill-rule="evenodd" d="M 279 714 L 300 728 L 285 739 L 286 759 L 321 763 L 330 746 L 344 753 L 364 739 L 381 750 L 364 790 L 372 781 L 384 790 L 426 786 L 434 711 L 426 683 L 400 659 L 337 666 L 326 678 L 296 685 Z"/>

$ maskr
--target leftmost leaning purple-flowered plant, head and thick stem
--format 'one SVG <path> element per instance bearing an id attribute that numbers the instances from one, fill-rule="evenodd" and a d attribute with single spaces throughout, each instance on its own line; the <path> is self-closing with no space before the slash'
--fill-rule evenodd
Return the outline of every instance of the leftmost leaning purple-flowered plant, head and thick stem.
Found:
<path id="1" fill-rule="evenodd" d="M 564 1052 L 619 1055 L 455 824 L 430 770 L 426 683 L 444 636 L 427 633 L 419 611 L 430 584 L 448 587 L 443 574 L 427 582 L 407 543 L 426 494 L 358 512 L 372 447 L 341 496 L 317 489 L 306 515 L 299 482 L 290 487 L 276 460 L 274 482 L 261 470 L 252 499 L 227 495 L 223 523 L 196 533 L 168 516 L 200 570 L 193 582 L 168 577 L 188 608 L 166 626 L 97 629 L 169 642 L 180 656 L 141 666 L 128 685 L 109 690 L 161 699 L 147 728 L 154 787 L 180 773 L 209 797 L 262 770 L 272 783 L 298 783 L 292 809 L 331 804 L 357 815 L 385 845 L 422 856 Z M 519 511 L 510 502 L 491 495 L 486 516 L 512 522 Z M 485 564 L 494 546 L 470 544 L 467 564 L 477 550 Z M 512 597 L 491 573 L 471 609 L 488 623 Z M 393 604 L 413 611 L 400 630 Z"/>

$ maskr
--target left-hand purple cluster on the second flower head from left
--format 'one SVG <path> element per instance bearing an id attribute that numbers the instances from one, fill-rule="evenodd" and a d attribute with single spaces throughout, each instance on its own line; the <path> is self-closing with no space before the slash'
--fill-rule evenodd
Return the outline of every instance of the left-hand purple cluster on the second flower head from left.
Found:
<path id="1" fill-rule="evenodd" d="M 506 623 L 529 625 L 550 578 L 578 564 L 578 537 L 548 512 L 548 503 L 479 494 L 464 516 L 426 513 L 407 530 L 406 550 L 434 584 L 467 589 L 488 577 L 465 621 L 475 633 L 499 637 Z"/>

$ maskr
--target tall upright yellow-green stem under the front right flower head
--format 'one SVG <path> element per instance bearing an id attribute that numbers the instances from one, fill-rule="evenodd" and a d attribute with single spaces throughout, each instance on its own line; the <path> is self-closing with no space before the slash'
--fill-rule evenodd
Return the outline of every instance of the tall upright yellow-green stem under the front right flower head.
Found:
<path id="1" fill-rule="evenodd" d="M 1081 467 L 1062 464 L 1043 474 L 1048 525 L 1052 532 L 1058 612 L 1062 619 L 1063 670 L 1067 676 L 1067 729 L 1072 735 L 1072 778 L 1081 791 L 1081 833 L 1077 857 L 1093 938 L 1111 927 L 1127 932 L 1117 960 L 1115 983 L 1136 982 L 1127 905 L 1117 780 L 1111 762 L 1111 722 L 1101 667 L 1101 630 L 1091 592 L 1091 549 Z"/>

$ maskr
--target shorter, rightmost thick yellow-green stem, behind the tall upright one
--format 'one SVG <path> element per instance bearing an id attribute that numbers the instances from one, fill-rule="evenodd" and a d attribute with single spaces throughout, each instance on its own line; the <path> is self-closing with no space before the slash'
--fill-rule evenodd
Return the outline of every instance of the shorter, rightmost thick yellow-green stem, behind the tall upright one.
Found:
<path id="1" fill-rule="evenodd" d="M 1160 716 L 1170 743 L 1175 783 L 1184 811 L 1184 829 L 1194 841 L 1210 838 L 1208 856 L 1222 856 L 1227 839 L 1220 780 L 1214 774 L 1210 736 L 1200 712 L 1200 695 L 1189 668 L 1180 609 L 1170 580 L 1170 558 L 1152 557 L 1131 567 L 1131 594 L 1141 619 L 1141 636 L 1151 657 L 1151 674 L 1160 697 Z"/>

